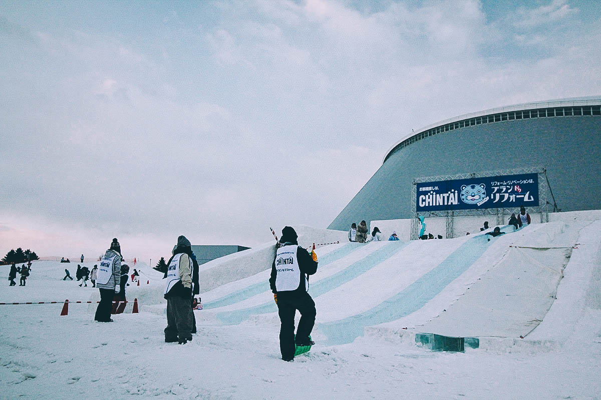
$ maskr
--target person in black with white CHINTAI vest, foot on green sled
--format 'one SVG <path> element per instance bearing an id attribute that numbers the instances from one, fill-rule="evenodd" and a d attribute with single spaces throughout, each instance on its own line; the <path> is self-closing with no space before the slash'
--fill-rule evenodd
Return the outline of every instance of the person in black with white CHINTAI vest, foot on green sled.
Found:
<path id="1" fill-rule="evenodd" d="M 301 320 L 296 330 L 296 345 L 315 344 L 309 338 L 315 324 L 315 302 L 307 293 L 309 275 L 317 272 L 317 256 L 299 246 L 297 234 L 292 227 L 282 229 L 282 237 L 276 246 L 275 260 L 271 267 L 269 285 L 273 299 L 278 305 L 279 350 L 282 360 L 294 360 L 296 350 L 294 339 L 294 315 L 301 312 Z M 314 253 L 313 253 L 314 254 Z"/>

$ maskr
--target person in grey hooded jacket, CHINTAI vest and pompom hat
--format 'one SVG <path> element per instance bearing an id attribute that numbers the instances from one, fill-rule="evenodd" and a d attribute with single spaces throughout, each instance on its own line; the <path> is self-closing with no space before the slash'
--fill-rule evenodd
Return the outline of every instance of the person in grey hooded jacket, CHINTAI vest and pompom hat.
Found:
<path id="1" fill-rule="evenodd" d="M 119 280 L 121 276 L 121 245 L 115 237 L 109 249 L 100 260 L 96 273 L 96 287 L 100 290 L 100 303 L 96 308 L 94 320 L 99 322 L 112 322 L 112 299 L 119 293 Z"/>

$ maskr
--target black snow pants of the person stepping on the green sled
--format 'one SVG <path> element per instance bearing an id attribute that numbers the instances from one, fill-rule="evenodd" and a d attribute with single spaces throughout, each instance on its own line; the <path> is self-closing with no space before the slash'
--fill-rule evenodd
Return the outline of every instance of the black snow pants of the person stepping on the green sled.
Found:
<path id="1" fill-rule="evenodd" d="M 281 326 L 279 329 L 279 350 L 283 360 L 294 358 L 294 315 L 301 312 L 301 320 L 296 331 L 296 343 L 306 343 L 315 324 L 315 302 L 307 293 L 278 292 L 278 314 Z"/>

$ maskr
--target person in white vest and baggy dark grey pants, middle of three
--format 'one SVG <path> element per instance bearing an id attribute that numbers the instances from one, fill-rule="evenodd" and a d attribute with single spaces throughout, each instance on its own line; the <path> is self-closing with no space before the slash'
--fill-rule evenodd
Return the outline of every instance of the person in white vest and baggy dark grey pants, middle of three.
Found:
<path id="1" fill-rule="evenodd" d="M 194 312 L 192 311 L 192 245 L 185 236 L 177 238 L 177 246 L 167 263 L 165 272 L 165 299 L 167 300 L 167 327 L 165 342 L 186 344 L 192 340 Z"/>

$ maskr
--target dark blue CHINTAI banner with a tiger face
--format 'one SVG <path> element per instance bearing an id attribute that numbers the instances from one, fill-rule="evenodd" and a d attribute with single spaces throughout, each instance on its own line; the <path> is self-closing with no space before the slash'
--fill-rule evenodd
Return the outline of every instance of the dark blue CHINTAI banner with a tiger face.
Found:
<path id="1" fill-rule="evenodd" d="M 489 176 L 417 184 L 417 211 L 538 206 L 538 174 Z"/>

